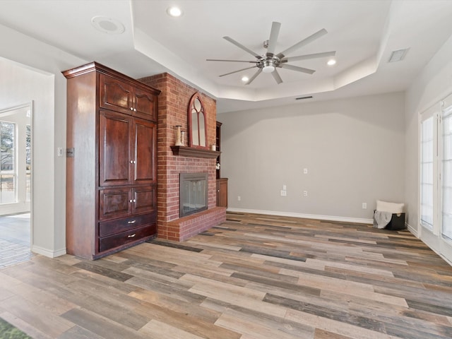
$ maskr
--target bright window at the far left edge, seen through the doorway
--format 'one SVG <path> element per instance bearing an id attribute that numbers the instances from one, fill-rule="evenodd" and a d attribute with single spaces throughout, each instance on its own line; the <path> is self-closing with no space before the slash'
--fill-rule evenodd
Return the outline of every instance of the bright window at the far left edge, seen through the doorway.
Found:
<path id="1" fill-rule="evenodd" d="M 16 124 L 0 121 L 0 203 L 17 201 Z"/>

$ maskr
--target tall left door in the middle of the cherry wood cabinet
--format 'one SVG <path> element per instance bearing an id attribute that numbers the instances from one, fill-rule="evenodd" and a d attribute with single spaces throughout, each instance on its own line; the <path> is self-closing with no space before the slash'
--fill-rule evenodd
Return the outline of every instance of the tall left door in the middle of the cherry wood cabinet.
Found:
<path id="1" fill-rule="evenodd" d="M 101 111 L 99 116 L 99 186 L 131 184 L 133 118 Z"/>

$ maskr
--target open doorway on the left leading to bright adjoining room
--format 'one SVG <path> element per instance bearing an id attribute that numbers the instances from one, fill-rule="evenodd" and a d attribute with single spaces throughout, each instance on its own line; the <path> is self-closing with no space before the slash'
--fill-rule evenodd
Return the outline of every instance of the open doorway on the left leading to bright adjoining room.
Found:
<path id="1" fill-rule="evenodd" d="M 0 268 L 32 256 L 32 107 L 0 109 Z"/>

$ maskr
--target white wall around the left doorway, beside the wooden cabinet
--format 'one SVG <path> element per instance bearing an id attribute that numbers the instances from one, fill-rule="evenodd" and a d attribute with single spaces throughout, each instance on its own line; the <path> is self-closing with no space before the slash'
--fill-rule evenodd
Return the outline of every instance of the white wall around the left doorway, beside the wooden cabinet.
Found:
<path id="1" fill-rule="evenodd" d="M 61 71 L 86 61 L 0 25 L 0 106 L 34 100 L 32 251 L 66 253 L 66 78 Z M 29 70 L 24 71 L 23 66 Z M 10 67 L 11 66 L 11 67 Z"/>

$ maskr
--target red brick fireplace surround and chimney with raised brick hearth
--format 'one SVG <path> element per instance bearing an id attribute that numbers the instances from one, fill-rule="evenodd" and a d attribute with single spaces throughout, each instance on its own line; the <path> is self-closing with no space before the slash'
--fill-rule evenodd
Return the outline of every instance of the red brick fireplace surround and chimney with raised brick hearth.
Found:
<path id="1" fill-rule="evenodd" d="M 176 142 L 176 127 L 187 131 L 187 109 L 196 89 L 168 73 L 139 79 L 161 90 L 158 97 L 157 126 L 157 237 L 188 239 L 226 220 L 226 209 L 216 206 L 215 159 L 174 155 L 171 146 Z M 206 110 L 208 145 L 215 144 L 216 102 L 201 93 Z M 187 133 L 184 140 L 188 145 Z M 179 218 L 179 174 L 208 173 L 208 209 Z"/>

